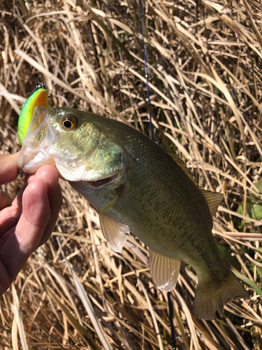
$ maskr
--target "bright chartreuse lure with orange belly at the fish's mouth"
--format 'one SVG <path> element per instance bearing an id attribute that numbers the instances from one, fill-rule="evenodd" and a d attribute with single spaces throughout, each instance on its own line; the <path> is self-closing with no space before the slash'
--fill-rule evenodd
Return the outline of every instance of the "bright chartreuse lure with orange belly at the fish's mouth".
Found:
<path id="1" fill-rule="evenodd" d="M 18 139 L 22 146 L 27 129 L 29 127 L 31 118 L 36 106 L 48 107 L 48 93 L 45 88 L 45 83 L 41 83 L 36 86 L 37 90 L 31 94 L 21 109 L 21 113 L 18 119 Z"/>

